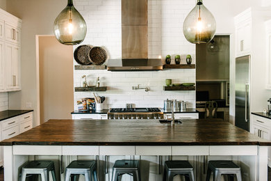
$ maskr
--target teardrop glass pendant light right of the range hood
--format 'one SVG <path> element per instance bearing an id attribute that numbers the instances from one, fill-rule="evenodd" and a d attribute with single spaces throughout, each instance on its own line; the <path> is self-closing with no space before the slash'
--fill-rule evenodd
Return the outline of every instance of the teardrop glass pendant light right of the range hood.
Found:
<path id="1" fill-rule="evenodd" d="M 207 43 L 215 36 L 215 29 L 215 17 L 203 5 L 202 0 L 197 0 L 197 5 L 183 22 L 186 40 L 195 44 Z"/>

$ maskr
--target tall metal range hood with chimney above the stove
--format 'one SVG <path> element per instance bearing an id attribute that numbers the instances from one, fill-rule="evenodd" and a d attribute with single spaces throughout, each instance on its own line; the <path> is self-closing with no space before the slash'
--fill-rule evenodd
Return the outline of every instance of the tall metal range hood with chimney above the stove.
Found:
<path id="1" fill-rule="evenodd" d="M 161 59 L 148 58 L 147 0 L 122 0 L 122 59 L 109 60 L 108 70 L 163 70 Z"/>

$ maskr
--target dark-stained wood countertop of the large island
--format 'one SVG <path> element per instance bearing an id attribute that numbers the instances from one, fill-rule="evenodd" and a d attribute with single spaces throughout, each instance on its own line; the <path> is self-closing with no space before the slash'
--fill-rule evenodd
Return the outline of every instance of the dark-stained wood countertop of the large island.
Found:
<path id="1" fill-rule="evenodd" d="M 49 120 L 0 145 L 271 145 L 222 120 L 182 122 L 171 126 L 158 120 Z"/>

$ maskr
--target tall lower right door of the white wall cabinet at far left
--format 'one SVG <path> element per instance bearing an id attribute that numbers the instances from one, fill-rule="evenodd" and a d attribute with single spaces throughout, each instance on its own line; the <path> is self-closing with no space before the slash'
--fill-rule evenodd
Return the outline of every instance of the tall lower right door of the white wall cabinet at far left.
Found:
<path id="1" fill-rule="evenodd" d="M 20 47 L 6 42 L 6 91 L 18 91 L 20 89 L 19 67 Z"/>

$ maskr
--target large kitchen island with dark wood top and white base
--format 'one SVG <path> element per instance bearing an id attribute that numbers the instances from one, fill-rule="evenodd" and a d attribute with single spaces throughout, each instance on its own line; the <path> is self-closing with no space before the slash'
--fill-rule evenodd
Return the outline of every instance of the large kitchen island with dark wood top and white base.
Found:
<path id="1" fill-rule="evenodd" d="M 128 158 L 144 160 L 141 164 L 149 170 L 142 173 L 143 180 L 156 181 L 162 177 L 161 160 L 170 156 L 192 163 L 197 181 L 205 180 L 203 170 L 212 159 L 236 162 L 243 180 L 268 180 L 271 141 L 222 120 L 181 121 L 171 125 L 161 124 L 159 120 L 49 120 L 0 142 L 4 177 L 18 180 L 20 166 L 39 157 L 59 158 L 56 164 L 64 163 L 62 166 L 88 157 L 97 159 L 99 180 L 110 180 L 112 168 L 107 166 L 113 166 L 115 159 Z M 60 169 L 63 171 L 59 173 L 60 180 L 65 166 Z M 109 172 L 104 172 L 104 168 Z"/>

